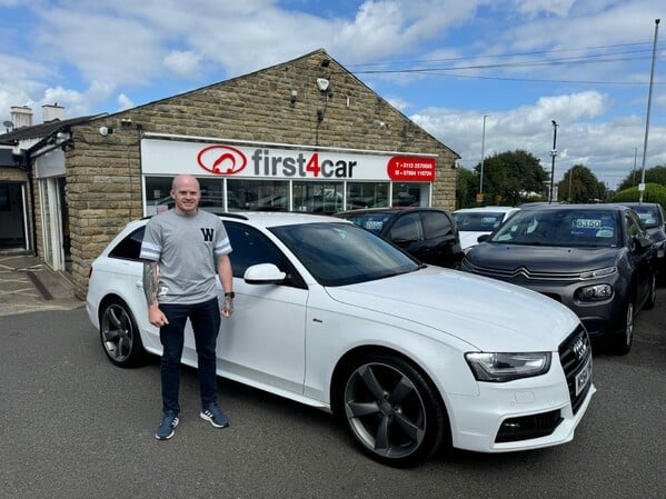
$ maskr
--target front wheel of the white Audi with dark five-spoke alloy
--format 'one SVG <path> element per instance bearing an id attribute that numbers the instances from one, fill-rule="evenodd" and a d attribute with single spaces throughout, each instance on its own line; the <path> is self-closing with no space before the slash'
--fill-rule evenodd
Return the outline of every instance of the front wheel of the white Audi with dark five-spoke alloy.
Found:
<path id="1" fill-rule="evenodd" d="M 431 383 L 396 356 L 372 355 L 350 365 L 342 397 L 355 442 L 385 465 L 410 467 L 428 459 L 449 431 Z"/>

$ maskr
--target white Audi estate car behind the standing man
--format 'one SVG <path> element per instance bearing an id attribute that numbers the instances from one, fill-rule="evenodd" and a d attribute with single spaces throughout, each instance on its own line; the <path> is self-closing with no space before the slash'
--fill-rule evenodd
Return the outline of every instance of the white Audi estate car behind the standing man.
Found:
<path id="1" fill-rule="evenodd" d="M 443 445 L 503 452 L 574 438 L 596 389 L 588 336 L 566 307 L 424 266 L 334 217 L 222 218 L 236 309 L 220 329 L 219 376 L 338 415 L 391 466 Z M 88 317 L 119 367 L 161 352 L 137 286 L 146 223 L 130 222 L 90 272 Z M 197 362 L 189 327 L 182 362 Z"/>

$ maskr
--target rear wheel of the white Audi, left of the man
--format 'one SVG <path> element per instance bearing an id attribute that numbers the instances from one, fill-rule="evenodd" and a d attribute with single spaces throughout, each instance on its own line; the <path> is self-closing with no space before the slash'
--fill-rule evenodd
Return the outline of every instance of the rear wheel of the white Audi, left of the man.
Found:
<path id="1" fill-rule="evenodd" d="M 146 350 L 137 321 L 125 301 L 107 300 L 100 309 L 99 335 L 108 359 L 121 368 L 137 367 L 146 358 Z"/>

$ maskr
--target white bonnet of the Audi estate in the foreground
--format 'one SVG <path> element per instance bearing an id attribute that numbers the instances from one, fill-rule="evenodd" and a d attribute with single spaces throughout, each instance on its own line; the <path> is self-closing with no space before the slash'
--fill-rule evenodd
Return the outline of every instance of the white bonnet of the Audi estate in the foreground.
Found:
<path id="1" fill-rule="evenodd" d="M 387 323 L 418 325 L 419 333 L 443 341 L 453 336 L 484 351 L 555 351 L 579 322 L 550 298 L 437 267 L 327 292 L 358 315 L 378 312 Z"/>

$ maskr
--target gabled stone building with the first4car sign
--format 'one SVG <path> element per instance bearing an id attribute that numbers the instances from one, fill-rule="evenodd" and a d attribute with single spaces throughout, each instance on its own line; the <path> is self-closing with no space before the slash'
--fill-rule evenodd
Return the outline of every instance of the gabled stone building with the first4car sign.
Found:
<path id="1" fill-rule="evenodd" d="M 199 178 L 213 211 L 455 207 L 458 154 L 322 49 L 89 117 L 59 137 L 62 164 L 52 172 L 64 179 L 62 240 L 79 298 L 90 262 L 118 231 L 169 207 L 178 173 Z"/>

